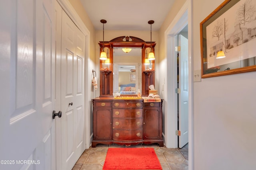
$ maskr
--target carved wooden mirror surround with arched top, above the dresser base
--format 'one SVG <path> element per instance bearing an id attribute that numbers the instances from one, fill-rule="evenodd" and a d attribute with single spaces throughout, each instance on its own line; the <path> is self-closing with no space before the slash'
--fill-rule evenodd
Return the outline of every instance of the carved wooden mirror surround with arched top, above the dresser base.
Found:
<path id="1" fill-rule="evenodd" d="M 114 92 L 124 90 L 126 90 L 125 94 L 121 95 L 135 96 L 138 89 L 142 96 L 147 96 L 149 94 L 148 84 L 154 85 L 154 60 L 149 61 L 150 64 L 147 65 L 145 62 L 150 47 L 154 53 L 156 43 L 146 42 L 138 37 L 121 36 L 110 41 L 100 41 L 98 44 L 100 51 L 104 49 L 107 55 L 109 51 L 110 63 L 108 65 L 106 61 L 100 60 L 100 97 L 113 96 Z M 125 52 L 125 48 L 131 50 Z M 136 51 L 139 52 L 135 53 Z M 124 88 L 127 86 L 130 90 Z"/>

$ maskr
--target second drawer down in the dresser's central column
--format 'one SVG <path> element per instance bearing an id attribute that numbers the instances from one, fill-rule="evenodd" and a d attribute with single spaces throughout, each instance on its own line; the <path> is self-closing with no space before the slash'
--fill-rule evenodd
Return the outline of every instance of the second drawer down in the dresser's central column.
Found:
<path id="1" fill-rule="evenodd" d="M 143 117 L 143 109 L 113 109 L 113 117 L 118 117 L 118 118 Z"/>

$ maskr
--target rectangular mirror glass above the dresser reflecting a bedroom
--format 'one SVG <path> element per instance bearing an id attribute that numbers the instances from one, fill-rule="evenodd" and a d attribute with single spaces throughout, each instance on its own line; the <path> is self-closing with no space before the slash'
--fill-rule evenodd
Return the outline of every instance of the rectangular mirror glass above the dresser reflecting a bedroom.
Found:
<path id="1" fill-rule="evenodd" d="M 122 50 L 124 49 L 124 51 Z M 129 49 L 125 52 L 125 50 Z M 141 89 L 140 47 L 114 47 L 113 51 L 113 92 L 121 95 L 135 95 Z"/>

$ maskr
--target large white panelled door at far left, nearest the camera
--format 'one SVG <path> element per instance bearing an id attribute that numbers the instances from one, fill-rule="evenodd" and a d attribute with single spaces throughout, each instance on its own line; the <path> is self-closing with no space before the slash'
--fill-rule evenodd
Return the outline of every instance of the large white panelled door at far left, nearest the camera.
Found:
<path id="1" fill-rule="evenodd" d="M 1 2 L 3 170 L 55 169 L 53 7 L 51 0 Z"/>

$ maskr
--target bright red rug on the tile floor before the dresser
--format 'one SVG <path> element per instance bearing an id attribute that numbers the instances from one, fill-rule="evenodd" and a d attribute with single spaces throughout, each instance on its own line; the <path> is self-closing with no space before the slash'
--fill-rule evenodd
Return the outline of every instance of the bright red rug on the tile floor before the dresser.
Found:
<path id="1" fill-rule="evenodd" d="M 109 148 L 102 170 L 162 170 L 153 148 Z"/>

